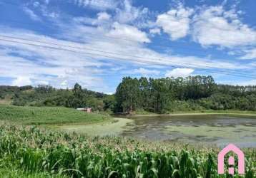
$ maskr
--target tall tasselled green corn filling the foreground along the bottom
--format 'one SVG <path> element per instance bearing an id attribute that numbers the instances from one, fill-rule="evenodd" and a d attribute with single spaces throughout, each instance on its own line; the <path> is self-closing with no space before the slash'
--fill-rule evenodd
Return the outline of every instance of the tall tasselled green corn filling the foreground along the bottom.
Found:
<path id="1" fill-rule="evenodd" d="M 218 151 L 122 137 L 87 137 L 34 126 L 0 127 L 0 174 L 16 169 L 42 177 L 230 177 L 217 174 Z M 243 177 L 256 177 L 256 150 L 244 151 Z"/>

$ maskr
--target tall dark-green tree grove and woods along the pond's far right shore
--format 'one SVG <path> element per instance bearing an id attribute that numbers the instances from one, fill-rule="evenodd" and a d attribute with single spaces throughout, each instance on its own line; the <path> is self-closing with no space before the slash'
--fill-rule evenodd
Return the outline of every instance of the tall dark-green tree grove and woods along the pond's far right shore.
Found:
<path id="1" fill-rule="evenodd" d="M 256 87 L 217 85 L 212 76 L 123 78 L 117 111 L 256 110 Z"/>

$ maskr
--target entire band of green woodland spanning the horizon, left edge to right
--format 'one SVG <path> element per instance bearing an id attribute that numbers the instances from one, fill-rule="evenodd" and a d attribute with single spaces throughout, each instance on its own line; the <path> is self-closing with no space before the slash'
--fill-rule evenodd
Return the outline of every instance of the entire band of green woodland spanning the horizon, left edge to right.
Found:
<path id="1" fill-rule="evenodd" d="M 49 85 L 0 86 L 0 100 L 11 98 L 12 105 L 90 107 L 99 112 L 155 113 L 199 110 L 256 110 L 256 86 L 222 85 L 212 76 L 187 78 L 124 77 L 116 93 L 107 95 L 83 89 Z"/>

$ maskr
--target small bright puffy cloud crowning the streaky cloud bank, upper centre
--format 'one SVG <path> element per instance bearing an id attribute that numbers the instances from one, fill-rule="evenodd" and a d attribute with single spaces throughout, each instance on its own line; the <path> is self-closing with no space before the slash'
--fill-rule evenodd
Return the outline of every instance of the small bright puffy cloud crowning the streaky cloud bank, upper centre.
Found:
<path id="1" fill-rule="evenodd" d="M 118 22 L 113 23 L 112 30 L 109 31 L 107 36 L 112 36 L 115 38 L 125 38 L 127 40 L 137 42 L 150 42 L 150 39 L 147 38 L 147 33 L 140 31 L 138 28 L 134 26 L 120 24 Z"/>

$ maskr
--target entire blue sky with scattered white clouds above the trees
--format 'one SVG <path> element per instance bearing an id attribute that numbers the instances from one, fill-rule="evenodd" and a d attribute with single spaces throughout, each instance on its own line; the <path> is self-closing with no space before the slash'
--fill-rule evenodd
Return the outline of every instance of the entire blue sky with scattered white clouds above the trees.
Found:
<path id="1" fill-rule="evenodd" d="M 2 0 L 0 85 L 114 93 L 127 75 L 256 85 L 255 8 L 253 0 Z"/>

